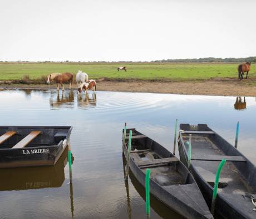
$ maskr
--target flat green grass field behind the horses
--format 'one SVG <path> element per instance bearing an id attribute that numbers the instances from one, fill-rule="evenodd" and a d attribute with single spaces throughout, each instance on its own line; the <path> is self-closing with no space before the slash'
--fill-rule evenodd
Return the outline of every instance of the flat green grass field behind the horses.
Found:
<path id="1" fill-rule="evenodd" d="M 117 72 L 126 66 L 127 72 Z M 90 79 L 167 79 L 195 80 L 236 78 L 238 63 L 0 63 L 0 80 L 40 78 L 52 72 L 86 72 Z M 256 77 L 256 64 L 251 65 L 249 77 Z"/>

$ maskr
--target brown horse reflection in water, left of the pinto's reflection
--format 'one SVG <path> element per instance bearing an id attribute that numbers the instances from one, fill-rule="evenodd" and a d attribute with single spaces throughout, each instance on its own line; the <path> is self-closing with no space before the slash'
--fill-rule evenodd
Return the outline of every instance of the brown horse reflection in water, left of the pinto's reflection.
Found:
<path id="1" fill-rule="evenodd" d="M 50 96 L 50 107 L 51 109 L 55 108 L 65 108 L 65 107 L 74 107 L 74 93 L 73 90 L 62 91 L 61 96 L 60 93 L 57 91 L 57 98 L 55 98 L 55 92 L 51 93 Z"/>

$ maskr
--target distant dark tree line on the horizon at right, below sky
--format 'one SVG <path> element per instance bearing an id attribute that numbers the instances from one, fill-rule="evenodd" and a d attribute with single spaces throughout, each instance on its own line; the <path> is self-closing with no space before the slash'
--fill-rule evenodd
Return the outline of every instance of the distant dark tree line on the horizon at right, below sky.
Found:
<path id="1" fill-rule="evenodd" d="M 155 60 L 151 62 L 256 62 L 256 57 L 247 57 L 247 58 L 199 58 L 199 59 L 163 59 Z"/>

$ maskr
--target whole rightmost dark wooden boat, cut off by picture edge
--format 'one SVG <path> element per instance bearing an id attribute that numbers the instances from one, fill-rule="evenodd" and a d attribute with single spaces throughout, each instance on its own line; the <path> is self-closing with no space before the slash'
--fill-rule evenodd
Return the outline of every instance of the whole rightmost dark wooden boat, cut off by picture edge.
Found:
<path id="1" fill-rule="evenodd" d="M 220 174 L 214 217 L 255 219 L 256 169 L 252 162 L 207 125 L 180 124 L 180 129 L 180 159 L 188 164 L 186 141 L 191 134 L 190 171 L 209 207 L 218 165 L 221 159 L 227 160 Z"/>

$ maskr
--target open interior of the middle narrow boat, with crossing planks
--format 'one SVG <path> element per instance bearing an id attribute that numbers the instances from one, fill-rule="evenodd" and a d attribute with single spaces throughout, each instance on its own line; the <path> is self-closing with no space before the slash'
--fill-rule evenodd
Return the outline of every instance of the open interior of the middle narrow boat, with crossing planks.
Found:
<path id="1" fill-rule="evenodd" d="M 192 184 L 188 174 L 178 158 L 149 137 L 132 130 L 130 157 L 143 172 L 150 168 L 150 177 L 161 186 Z M 126 133 L 126 145 L 129 134 Z"/>

